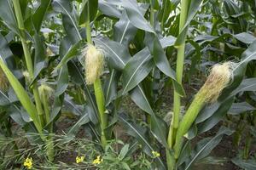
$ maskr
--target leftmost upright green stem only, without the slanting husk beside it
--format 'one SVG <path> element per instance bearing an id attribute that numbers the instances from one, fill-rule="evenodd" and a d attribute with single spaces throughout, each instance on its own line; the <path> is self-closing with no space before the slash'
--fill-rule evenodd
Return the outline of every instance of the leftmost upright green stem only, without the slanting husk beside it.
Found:
<path id="1" fill-rule="evenodd" d="M 14 7 L 15 7 L 15 15 L 16 15 L 18 26 L 20 29 L 20 39 L 21 39 L 22 48 L 24 51 L 25 60 L 26 60 L 26 67 L 27 67 L 27 71 L 29 72 L 30 79 L 32 80 L 33 79 L 32 58 L 31 58 L 31 54 L 29 53 L 28 45 L 26 43 L 26 38 L 25 38 L 26 36 L 25 36 L 25 31 L 24 31 L 25 27 L 24 27 L 24 23 L 23 23 L 21 10 L 20 10 L 20 3 L 19 3 L 19 0 L 13 0 L 13 3 L 14 3 Z M 41 99 L 40 99 L 39 92 L 38 92 L 37 82 L 34 82 L 34 84 L 32 86 L 32 92 L 34 94 L 34 99 L 36 102 L 36 108 L 38 111 L 41 128 L 43 128 L 44 127 L 44 111 L 42 108 Z"/>

